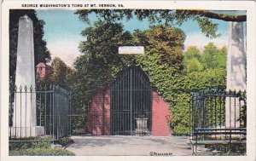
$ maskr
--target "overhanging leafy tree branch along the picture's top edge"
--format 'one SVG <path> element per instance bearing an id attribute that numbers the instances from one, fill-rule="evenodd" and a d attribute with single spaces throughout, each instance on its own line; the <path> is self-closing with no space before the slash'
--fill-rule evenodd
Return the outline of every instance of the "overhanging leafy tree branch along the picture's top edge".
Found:
<path id="1" fill-rule="evenodd" d="M 207 37 L 218 37 L 218 24 L 213 23 L 211 19 L 225 21 L 246 21 L 246 15 L 220 14 L 211 10 L 189 10 L 189 9 L 81 9 L 76 12 L 80 20 L 90 23 L 89 14 L 95 13 L 103 20 L 109 22 L 118 22 L 120 20 L 131 20 L 134 16 L 138 20 L 148 19 L 152 24 L 164 23 L 170 25 L 182 25 L 186 20 L 195 20 L 201 28 L 201 32 Z"/>

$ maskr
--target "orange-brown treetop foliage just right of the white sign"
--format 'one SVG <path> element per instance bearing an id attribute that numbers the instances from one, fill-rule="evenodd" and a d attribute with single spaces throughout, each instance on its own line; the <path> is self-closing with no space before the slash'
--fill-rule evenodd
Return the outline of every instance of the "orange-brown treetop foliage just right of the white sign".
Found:
<path id="1" fill-rule="evenodd" d="M 185 34 L 170 25 L 150 26 L 146 31 L 137 30 L 134 42 L 144 46 L 149 55 L 160 56 L 160 63 L 167 63 L 182 69 Z"/>

